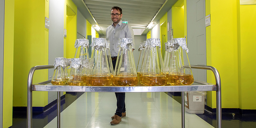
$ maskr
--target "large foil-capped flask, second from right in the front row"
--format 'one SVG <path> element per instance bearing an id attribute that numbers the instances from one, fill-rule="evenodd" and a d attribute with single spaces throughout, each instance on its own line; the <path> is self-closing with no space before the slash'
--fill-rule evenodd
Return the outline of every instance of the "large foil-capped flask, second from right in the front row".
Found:
<path id="1" fill-rule="evenodd" d="M 142 75 L 142 84 L 145 86 L 165 86 L 167 84 L 166 73 L 160 51 L 159 38 L 148 39 L 150 44 Z"/>

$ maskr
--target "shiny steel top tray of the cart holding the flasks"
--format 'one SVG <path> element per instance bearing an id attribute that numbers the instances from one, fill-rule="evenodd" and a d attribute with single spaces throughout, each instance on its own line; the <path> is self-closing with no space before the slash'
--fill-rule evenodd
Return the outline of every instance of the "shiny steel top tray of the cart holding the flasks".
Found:
<path id="1" fill-rule="evenodd" d="M 214 84 L 194 81 L 192 85 L 182 86 L 57 86 L 51 81 L 32 85 L 33 91 L 61 91 L 61 92 L 180 92 L 180 91 L 216 91 Z"/>

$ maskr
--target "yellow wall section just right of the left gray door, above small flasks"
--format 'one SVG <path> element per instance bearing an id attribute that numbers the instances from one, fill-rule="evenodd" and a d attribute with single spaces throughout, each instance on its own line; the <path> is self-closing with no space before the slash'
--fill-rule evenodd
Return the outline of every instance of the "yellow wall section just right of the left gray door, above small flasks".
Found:
<path id="1" fill-rule="evenodd" d="M 74 58 L 76 52 L 74 44 L 77 36 L 77 7 L 72 0 L 66 0 L 64 9 L 66 9 L 66 11 L 64 11 L 64 28 L 67 29 L 67 38 L 64 37 L 64 57 Z"/>

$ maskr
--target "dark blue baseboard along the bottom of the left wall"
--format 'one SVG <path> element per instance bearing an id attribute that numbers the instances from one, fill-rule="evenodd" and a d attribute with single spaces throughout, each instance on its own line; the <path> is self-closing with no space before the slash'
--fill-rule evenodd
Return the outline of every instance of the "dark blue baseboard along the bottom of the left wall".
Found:
<path id="1" fill-rule="evenodd" d="M 65 98 L 65 94 L 63 96 L 61 96 L 61 100 L 63 100 L 64 98 Z M 38 112 L 38 113 L 45 112 L 46 110 L 48 110 L 55 104 L 57 104 L 57 99 L 55 99 L 54 101 L 52 101 L 51 103 L 47 104 L 44 107 L 32 107 L 32 112 Z M 25 107 L 12 107 L 12 110 L 14 112 L 27 112 L 27 107 L 26 106 Z"/>

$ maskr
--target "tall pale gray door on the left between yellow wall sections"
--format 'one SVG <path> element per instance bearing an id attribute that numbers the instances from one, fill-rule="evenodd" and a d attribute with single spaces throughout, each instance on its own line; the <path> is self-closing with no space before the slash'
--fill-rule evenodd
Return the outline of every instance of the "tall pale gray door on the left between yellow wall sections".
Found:
<path id="1" fill-rule="evenodd" d="M 49 65 L 54 64 L 55 58 L 64 56 L 64 6 L 60 6 L 62 4 L 64 4 L 63 1 L 49 1 Z M 52 79 L 53 71 L 54 69 L 48 69 L 49 79 Z M 49 91 L 48 103 L 55 99 L 57 99 L 57 92 Z"/>

